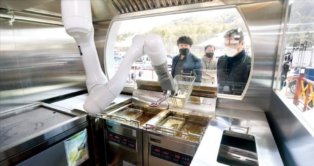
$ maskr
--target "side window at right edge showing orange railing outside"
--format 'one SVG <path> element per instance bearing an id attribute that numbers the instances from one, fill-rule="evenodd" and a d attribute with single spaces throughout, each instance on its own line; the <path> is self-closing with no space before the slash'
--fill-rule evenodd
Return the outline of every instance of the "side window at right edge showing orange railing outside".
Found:
<path id="1" fill-rule="evenodd" d="M 289 1 L 284 52 L 276 91 L 304 127 L 314 134 L 313 1 Z"/>

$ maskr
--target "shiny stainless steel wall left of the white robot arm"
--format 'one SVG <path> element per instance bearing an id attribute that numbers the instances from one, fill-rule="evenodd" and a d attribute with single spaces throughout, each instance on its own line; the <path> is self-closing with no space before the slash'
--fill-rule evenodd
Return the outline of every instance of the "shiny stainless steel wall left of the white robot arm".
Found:
<path id="1" fill-rule="evenodd" d="M 15 19 L 11 26 L 4 17 L 0 25 L 0 113 L 86 89 L 80 54 L 62 25 Z"/>

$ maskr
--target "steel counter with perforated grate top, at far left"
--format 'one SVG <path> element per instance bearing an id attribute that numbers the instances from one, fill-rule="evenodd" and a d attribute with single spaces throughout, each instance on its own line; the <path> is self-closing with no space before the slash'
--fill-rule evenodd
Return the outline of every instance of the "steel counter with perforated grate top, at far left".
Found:
<path id="1" fill-rule="evenodd" d="M 3 113 L 0 119 L 0 165 L 10 165 L 81 130 L 76 127 L 87 121 L 87 115 L 39 103 Z"/>

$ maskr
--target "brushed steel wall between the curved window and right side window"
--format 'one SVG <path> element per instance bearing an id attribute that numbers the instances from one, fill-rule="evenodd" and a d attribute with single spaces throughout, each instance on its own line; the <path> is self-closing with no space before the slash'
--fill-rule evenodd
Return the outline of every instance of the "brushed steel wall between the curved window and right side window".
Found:
<path id="1" fill-rule="evenodd" d="M 238 5 L 251 32 L 251 44 L 254 52 L 252 77 L 243 100 L 219 98 L 217 101 L 219 106 L 268 111 L 279 47 L 283 6 L 281 1 Z"/>

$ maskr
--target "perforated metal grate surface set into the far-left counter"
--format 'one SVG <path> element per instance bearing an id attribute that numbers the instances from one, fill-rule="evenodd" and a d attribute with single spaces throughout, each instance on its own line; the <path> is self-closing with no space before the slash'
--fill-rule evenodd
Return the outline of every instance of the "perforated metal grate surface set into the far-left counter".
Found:
<path id="1" fill-rule="evenodd" d="M 1 118 L 0 149 L 71 118 L 43 107 Z"/>

